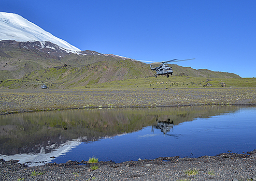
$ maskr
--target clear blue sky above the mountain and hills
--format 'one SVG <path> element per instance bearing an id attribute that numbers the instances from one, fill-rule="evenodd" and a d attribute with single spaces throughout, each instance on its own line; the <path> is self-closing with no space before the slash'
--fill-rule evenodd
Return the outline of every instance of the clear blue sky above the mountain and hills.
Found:
<path id="1" fill-rule="evenodd" d="M 256 77 L 256 1 L 1 0 L 81 50 Z"/>

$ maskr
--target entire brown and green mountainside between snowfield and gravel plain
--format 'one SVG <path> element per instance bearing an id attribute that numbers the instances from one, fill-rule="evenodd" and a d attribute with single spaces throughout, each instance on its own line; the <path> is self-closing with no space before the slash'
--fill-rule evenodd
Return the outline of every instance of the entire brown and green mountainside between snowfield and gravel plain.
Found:
<path id="1" fill-rule="evenodd" d="M 80 55 L 62 49 L 39 50 L 33 43 L 39 42 L 0 41 L 0 88 L 40 88 L 40 84 L 50 88 L 219 87 L 222 82 L 233 87 L 254 86 L 254 79 L 247 83 L 234 73 L 175 64 L 168 64 L 173 68 L 173 76 L 156 79 L 149 64 L 133 59 L 89 50 Z M 208 84 L 207 78 L 211 80 Z"/>

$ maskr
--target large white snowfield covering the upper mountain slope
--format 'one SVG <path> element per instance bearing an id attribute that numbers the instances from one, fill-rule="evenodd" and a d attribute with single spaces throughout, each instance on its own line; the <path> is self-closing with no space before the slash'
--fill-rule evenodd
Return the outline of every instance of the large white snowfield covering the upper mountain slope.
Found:
<path id="1" fill-rule="evenodd" d="M 81 51 L 68 42 L 46 32 L 34 23 L 27 21 L 18 14 L 7 12 L 0 12 L 0 41 L 1 40 L 50 41 L 68 50 L 70 53 L 78 53 Z"/>

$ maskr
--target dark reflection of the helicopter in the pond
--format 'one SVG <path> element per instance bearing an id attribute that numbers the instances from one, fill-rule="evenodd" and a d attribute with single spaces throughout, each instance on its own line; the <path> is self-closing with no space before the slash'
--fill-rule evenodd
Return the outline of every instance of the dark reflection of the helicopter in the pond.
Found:
<path id="1" fill-rule="evenodd" d="M 172 137 L 177 137 L 175 134 L 169 134 L 170 130 L 173 130 L 174 123 L 173 120 L 171 121 L 169 118 L 167 120 L 158 120 L 157 118 L 157 123 L 152 125 L 152 131 L 154 131 L 154 128 L 161 129 L 161 132 L 164 133 L 164 135 L 170 135 Z"/>

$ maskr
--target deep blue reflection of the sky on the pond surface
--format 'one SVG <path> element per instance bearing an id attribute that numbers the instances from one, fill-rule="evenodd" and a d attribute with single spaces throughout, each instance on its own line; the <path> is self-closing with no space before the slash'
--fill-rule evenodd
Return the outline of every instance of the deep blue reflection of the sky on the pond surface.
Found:
<path id="1" fill-rule="evenodd" d="M 94 155 L 102 161 L 123 162 L 138 158 L 212 156 L 228 150 L 233 153 L 248 152 L 256 149 L 255 113 L 255 108 L 245 108 L 235 113 L 196 118 L 193 122 L 175 125 L 166 134 L 147 126 L 115 138 L 83 142 L 72 152 L 53 161 L 87 160 Z"/>

